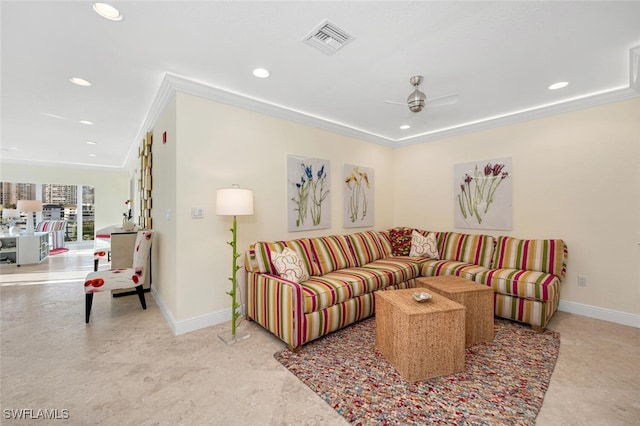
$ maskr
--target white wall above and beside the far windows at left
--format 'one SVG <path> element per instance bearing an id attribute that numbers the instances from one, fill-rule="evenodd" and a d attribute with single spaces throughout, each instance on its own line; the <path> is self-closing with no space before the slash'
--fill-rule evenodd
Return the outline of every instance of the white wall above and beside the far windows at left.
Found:
<path id="1" fill-rule="evenodd" d="M 129 197 L 129 172 L 123 170 L 48 167 L 2 162 L 0 181 L 16 183 L 57 183 L 95 188 L 95 229 L 122 223 Z"/>

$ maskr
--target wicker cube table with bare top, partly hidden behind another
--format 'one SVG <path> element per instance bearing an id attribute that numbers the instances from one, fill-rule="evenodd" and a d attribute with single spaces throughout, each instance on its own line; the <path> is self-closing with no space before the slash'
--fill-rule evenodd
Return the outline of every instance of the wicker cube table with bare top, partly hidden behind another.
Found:
<path id="1" fill-rule="evenodd" d="M 429 293 L 460 303 L 465 308 L 466 345 L 491 341 L 493 330 L 493 289 L 453 275 L 422 277 L 416 280 L 417 287 Z"/>

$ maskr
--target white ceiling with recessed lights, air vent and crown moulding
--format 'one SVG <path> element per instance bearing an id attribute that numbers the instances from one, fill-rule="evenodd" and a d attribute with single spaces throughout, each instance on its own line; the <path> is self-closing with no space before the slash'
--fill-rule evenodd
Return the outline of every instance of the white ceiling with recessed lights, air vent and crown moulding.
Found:
<path id="1" fill-rule="evenodd" d="M 2 1 L 3 161 L 122 168 L 167 88 L 388 146 L 640 95 L 640 2 L 111 4 Z M 327 19 L 354 37 L 332 55 L 302 41 Z M 413 75 L 457 102 L 384 102 Z"/>

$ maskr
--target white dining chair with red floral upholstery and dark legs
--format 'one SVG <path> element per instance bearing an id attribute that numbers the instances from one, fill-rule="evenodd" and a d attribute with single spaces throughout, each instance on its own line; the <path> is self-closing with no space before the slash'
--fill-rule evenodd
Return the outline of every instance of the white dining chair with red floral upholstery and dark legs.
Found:
<path id="1" fill-rule="evenodd" d="M 113 267 L 105 271 L 94 271 L 87 275 L 84 283 L 85 290 L 85 322 L 89 322 L 93 295 L 95 293 L 135 288 L 142 309 L 147 309 L 142 287 L 150 274 L 149 258 L 153 231 L 143 230 L 135 234 L 135 241 L 131 249 L 131 267 Z"/>

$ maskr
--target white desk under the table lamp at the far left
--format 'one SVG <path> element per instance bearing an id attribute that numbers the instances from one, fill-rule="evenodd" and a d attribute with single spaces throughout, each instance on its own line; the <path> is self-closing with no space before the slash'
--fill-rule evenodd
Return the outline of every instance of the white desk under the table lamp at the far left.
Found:
<path id="1" fill-rule="evenodd" d="M 4 264 L 38 264 L 49 257 L 49 233 L 0 236 L 0 262 Z"/>

